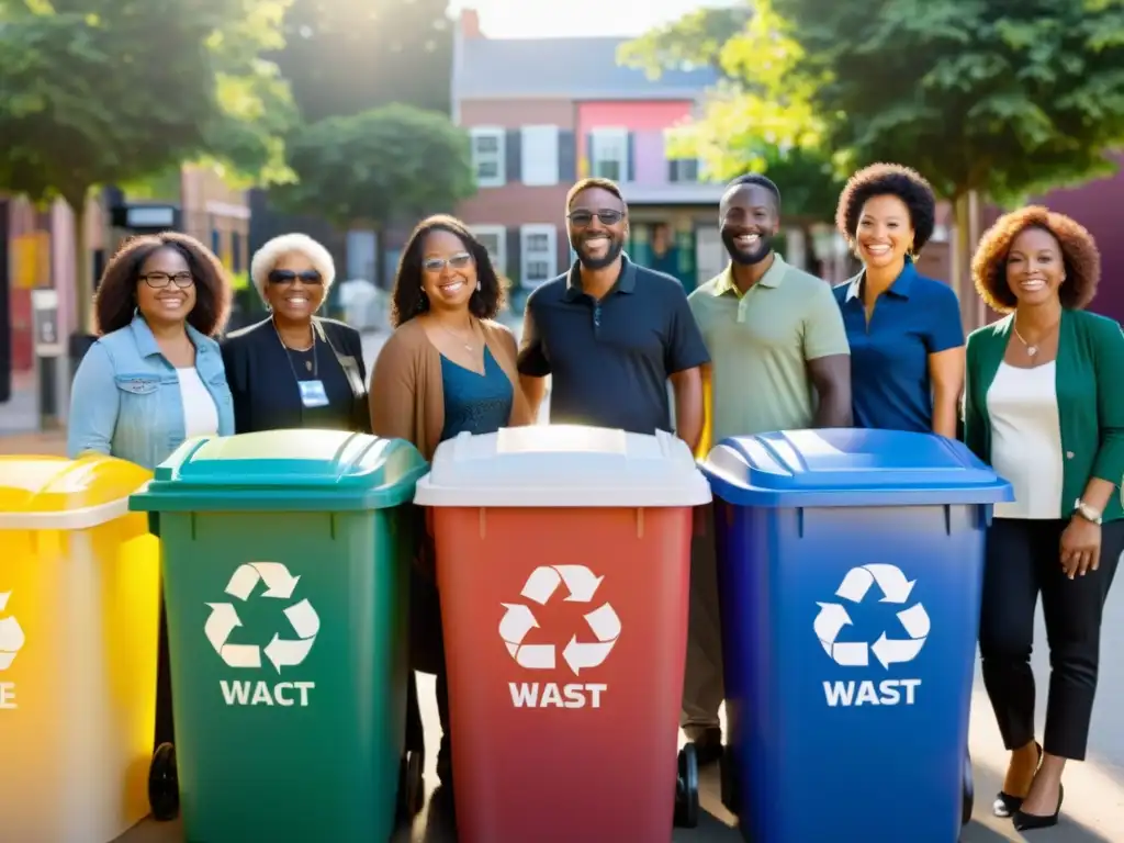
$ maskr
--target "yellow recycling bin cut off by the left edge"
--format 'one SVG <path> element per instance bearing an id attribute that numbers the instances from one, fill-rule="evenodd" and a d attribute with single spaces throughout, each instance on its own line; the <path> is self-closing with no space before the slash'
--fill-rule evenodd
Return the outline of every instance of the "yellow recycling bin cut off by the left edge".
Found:
<path id="1" fill-rule="evenodd" d="M 106 456 L 0 456 L 0 840 L 107 843 L 148 813 L 160 546 Z"/>

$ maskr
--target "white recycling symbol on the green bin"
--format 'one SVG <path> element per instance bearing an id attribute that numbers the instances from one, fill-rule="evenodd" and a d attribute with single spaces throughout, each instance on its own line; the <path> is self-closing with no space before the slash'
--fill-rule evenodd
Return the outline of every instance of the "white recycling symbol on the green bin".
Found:
<path id="1" fill-rule="evenodd" d="M 248 562 L 239 565 L 230 577 L 226 593 L 245 602 L 257 583 L 264 582 L 265 591 L 262 597 L 288 600 L 299 580 L 300 577 L 293 577 L 280 562 Z M 278 673 L 281 668 L 294 668 L 308 658 L 316 643 L 316 635 L 320 632 L 320 616 L 316 614 L 312 604 L 305 599 L 284 610 L 284 616 L 297 634 L 296 638 L 282 638 L 274 634 L 273 640 L 264 647 L 256 644 L 228 644 L 230 633 L 242 626 L 238 610 L 229 602 L 209 602 L 207 606 L 211 614 L 203 632 L 215 652 L 230 668 L 261 668 L 263 652 Z"/>

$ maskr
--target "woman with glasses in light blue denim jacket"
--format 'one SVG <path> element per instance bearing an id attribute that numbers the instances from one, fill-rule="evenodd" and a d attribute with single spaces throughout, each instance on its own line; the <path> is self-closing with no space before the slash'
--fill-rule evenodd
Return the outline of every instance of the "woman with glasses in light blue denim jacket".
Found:
<path id="1" fill-rule="evenodd" d="M 218 343 L 230 283 L 185 234 L 133 237 L 110 260 L 94 311 L 100 338 L 74 374 L 66 451 L 152 470 L 191 436 L 234 433 Z"/>

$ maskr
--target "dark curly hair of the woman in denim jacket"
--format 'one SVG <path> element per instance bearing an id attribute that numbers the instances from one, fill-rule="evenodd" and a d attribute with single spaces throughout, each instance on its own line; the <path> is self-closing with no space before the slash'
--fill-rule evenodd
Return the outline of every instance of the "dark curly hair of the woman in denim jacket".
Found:
<path id="1" fill-rule="evenodd" d="M 188 324 L 205 336 L 216 336 L 223 330 L 233 294 L 223 264 L 194 237 L 162 232 L 130 237 L 109 260 L 93 299 L 98 334 L 111 334 L 133 321 L 140 269 L 149 255 L 162 248 L 183 255 L 196 280 L 196 306 L 188 314 Z"/>

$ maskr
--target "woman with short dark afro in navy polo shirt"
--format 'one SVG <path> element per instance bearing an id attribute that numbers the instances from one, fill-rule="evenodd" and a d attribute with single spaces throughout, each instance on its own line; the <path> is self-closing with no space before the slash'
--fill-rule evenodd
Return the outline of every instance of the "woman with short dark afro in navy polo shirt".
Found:
<path id="1" fill-rule="evenodd" d="M 835 288 L 851 344 L 855 427 L 957 436 L 964 330 L 952 288 L 917 272 L 936 200 L 919 173 L 872 164 L 847 181 L 835 224 L 863 270 Z"/>

